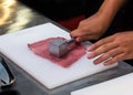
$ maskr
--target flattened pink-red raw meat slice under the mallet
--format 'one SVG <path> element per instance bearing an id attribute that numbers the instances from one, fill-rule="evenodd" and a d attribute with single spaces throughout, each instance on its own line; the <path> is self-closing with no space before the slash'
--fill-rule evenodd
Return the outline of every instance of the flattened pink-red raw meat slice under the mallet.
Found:
<path id="1" fill-rule="evenodd" d="M 63 57 L 55 57 L 49 53 L 49 43 L 52 40 L 55 40 L 57 38 L 50 38 L 47 40 L 42 40 L 35 43 L 28 44 L 30 50 L 34 52 L 37 55 L 48 59 L 53 63 L 57 63 L 63 67 L 69 67 L 74 62 L 76 62 L 80 57 L 82 57 L 85 54 L 85 48 L 83 45 L 78 45 L 75 49 L 70 51 L 65 56 Z"/>

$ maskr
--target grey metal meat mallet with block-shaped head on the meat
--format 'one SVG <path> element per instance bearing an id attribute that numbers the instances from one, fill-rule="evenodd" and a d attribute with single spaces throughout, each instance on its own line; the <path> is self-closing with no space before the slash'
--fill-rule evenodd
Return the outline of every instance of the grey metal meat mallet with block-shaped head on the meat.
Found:
<path id="1" fill-rule="evenodd" d="M 75 41 L 73 39 L 65 41 L 59 38 L 50 42 L 49 52 L 51 55 L 62 57 L 74 46 L 75 46 Z"/>

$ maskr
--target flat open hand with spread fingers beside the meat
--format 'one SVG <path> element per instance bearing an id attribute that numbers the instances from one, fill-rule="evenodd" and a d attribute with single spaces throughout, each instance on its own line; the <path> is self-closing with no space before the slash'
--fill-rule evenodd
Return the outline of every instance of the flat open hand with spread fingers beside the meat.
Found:
<path id="1" fill-rule="evenodd" d="M 100 54 L 94 64 L 104 62 L 104 65 L 113 64 L 117 61 L 133 59 L 133 31 L 116 33 L 102 39 L 89 48 L 91 52 L 88 59 L 93 59 Z"/>

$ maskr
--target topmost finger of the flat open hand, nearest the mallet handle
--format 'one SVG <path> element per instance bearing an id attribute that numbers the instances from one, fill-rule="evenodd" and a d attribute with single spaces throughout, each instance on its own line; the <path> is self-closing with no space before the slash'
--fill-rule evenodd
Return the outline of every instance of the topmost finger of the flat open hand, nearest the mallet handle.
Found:
<path id="1" fill-rule="evenodd" d="M 98 41 L 96 43 L 92 44 L 88 50 L 93 51 L 93 50 L 98 49 L 99 46 L 101 46 L 103 44 L 112 42 L 113 40 L 114 40 L 113 36 L 102 39 L 102 40 Z"/>

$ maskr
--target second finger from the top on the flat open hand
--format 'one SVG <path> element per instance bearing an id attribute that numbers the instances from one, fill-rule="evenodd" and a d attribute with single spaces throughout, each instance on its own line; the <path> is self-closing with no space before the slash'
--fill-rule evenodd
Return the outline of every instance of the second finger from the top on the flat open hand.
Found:
<path id="1" fill-rule="evenodd" d="M 117 46 L 119 46 L 117 44 L 114 44 L 112 42 L 103 44 L 103 45 L 99 46 L 96 50 L 92 51 L 92 53 L 90 53 L 88 55 L 88 59 L 93 59 L 93 57 L 95 57 L 95 56 L 98 56 L 98 55 L 100 55 L 102 53 L 106 53 L 108 51 L 113 50 L 113 49 L 115 49 Z M 112 53 L 112 51 L 110 51 L 110 52 Z"/>

